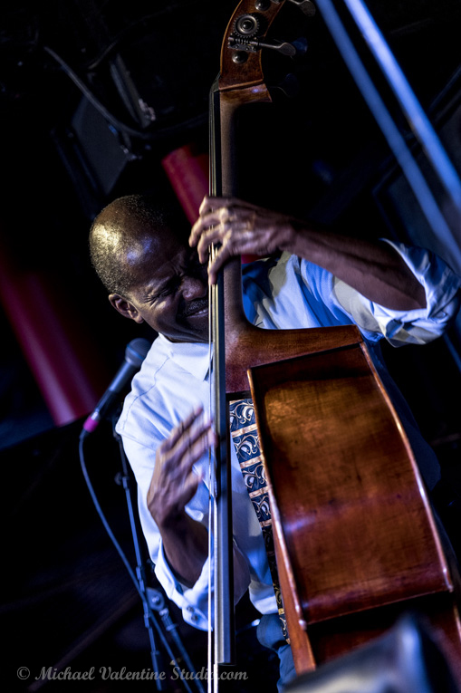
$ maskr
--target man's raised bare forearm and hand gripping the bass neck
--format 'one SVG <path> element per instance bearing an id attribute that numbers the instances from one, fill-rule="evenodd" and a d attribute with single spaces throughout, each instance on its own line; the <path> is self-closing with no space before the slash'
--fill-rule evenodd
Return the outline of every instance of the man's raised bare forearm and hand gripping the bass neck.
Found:
<path id="1" fill-rule="evenodd" d="M 205 197 L 189 244 L 201 262 L 207 249 L 222 244 L 208 267 L 210 284 L 234 255 L 272 255 L 288 251 L 323 267 L 360 294 L 386 308 L 419 310 L 426 306 L 422 284 L 390 245 L 331 233 L 309 221 L 287 217 L 234 197 Z"/>

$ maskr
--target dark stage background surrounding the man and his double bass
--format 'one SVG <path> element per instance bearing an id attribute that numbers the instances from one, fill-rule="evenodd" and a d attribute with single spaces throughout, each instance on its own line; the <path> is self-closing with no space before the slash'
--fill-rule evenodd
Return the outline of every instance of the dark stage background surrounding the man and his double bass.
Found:
<path id="1" fill-rule="evenodd" d="M 155 335 L 110 308 L 91 270 L 87 236 L 94 215 L 114 197 L 141 190 L 174 196 L 162 164 L 171 152 L 187 147 L 193 160 L 206 157 L 208 92 L 235 6 L 235 0 L 2 5 L 1 609 L 8 690 L 30 684 L 17 679 L 21 666 L 33 676 L 43 666 L 61 670 L 68 664 L 72 670 L 151 667 L 142 607 L 91 502 L 78 442 L 82 421 L 119 368 L 127 343 Z M 459 169 L 458 4 L 394 0 L 369 6 Z M 309 47 L 297 61 L 264 56 L 274 102 L 249 108 L 242 118 L 246 197 L 346 234 L 427 245 L 461 271 L 458 245 L 441 244 L 427 227 L 322 16 L 306 19 L 290 5 L 274 35 L 307 37 Z M 368 64 L 423 162 L 411 124 Z M 288 74 L 296 79 L 294 90 Z M 460 486 L 459 330 L 458 318 L 447 338 L 422 349 L 385 351 L 454 493 Z M 93 435 L 87 468 L 133 563 L 110 421 Z M 168 609 L 179 622 L 175 607 Z M 251 670 L 248 689 L 254 689 L 256 677 L 274 678 L 274 661 L 258 650 L 254 629 L 244 628 L 251 610 L 245 605 L 242 611 L 239 663 Z M 202 634 L 182 624 L 180 632 L 201 666 Z M 29 689 L 64 685 L 73 684 L 36 682 Z M 102 691 L 117 683 L 75 686 Z"/>

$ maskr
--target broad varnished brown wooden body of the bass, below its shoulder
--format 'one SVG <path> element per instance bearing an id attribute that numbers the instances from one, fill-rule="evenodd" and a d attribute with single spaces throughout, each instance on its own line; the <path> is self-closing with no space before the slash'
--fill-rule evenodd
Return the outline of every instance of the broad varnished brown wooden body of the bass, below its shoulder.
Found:
<path id="1" fill-rule="evenodd" d="M 457 568 L 364 345 L 256 367 L 250 380 L 298 673 L 415 611 L 461 683 Z"/>

